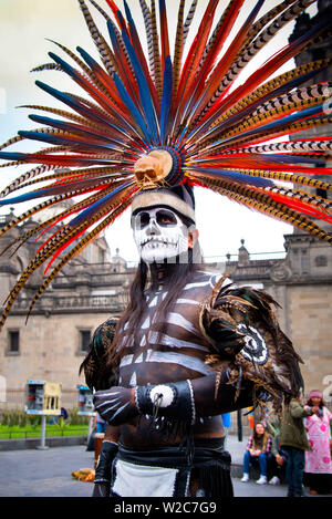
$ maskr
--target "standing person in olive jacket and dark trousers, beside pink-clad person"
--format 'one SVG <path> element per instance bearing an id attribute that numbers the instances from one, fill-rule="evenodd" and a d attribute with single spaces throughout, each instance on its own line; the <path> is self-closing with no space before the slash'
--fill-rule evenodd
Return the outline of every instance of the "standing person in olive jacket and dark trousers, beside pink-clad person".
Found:
<path id="1" fill-rule="evenodd" d="M 302 405 L 302 396 L 291 398 L 281 417 L 279 443 L 287 453 L 287 497 L 303 496 L 304 451 L 310 449 L 303 418 L 312 415 L 310 407 Z"/>

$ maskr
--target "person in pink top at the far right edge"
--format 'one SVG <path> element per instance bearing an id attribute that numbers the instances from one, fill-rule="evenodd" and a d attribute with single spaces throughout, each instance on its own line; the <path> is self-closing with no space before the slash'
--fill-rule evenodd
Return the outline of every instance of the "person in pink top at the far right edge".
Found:
<path id="1" fill-rule="evenodd" d="M 304 479 L 310 494 L 332 494 L 332 460 L 330 450 L 330 421 L 328 409 L 320 391 L 311 391 L 307 405 L 313 414 L 305 418 L 304 425 L 311 450 L 305 453 Z"/>

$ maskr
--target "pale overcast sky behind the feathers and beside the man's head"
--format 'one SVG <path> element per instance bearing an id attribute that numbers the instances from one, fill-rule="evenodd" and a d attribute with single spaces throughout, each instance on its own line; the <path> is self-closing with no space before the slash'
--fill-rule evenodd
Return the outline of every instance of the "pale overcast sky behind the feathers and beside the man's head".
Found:
<path id="1" fill-rule="evenodd" d="M 106 2 L 100 0 L 101 6 L 107 10 Z M 89 2 L 87 2 L 89 3 Z M 118 6 L 122 1 L 118 0 Z M 138 0 L 128 0 L 133 13 L 135 14 Z M 188 4 L 189 2 L 187 2 Z M 207 0 L 200 0 L 199 4 L 205 8 Z M 263 11 L 276 4 L 274 0 L 267 0 Z M 177 0 L 166 0 L 166 4 L 174 17 L 177 12 Z M 225 6 L 226 2 L 220 2 Z M 248 14 L 249 7 L 252 8 L 253 0 L 247 0 L 247 9 L 243 15 Z M 172 11 L 174 9 L 174 11 Z M 94 9 L 91 9 L 94 12 Z M 314 12 L 314 10 L 312 10 Z M 141 14 L 139 14 L 141 17 Z M 100 28 L 107 37 L 100 20 Z M 276 52 L 277 48 L 287 44 L 287 37 L 293 24 L 282 30 L 277 41 L 269 46 L 270 52 Z M 77 45 L 83 46 L 97 58 L 97 52 L 91 42 L 90 33 L 85 25 L 83 15 L 79 8 L 77 0 L 1 0 L 0 4 L 0 142 L 7 141 L 15 135 L 18 129 L 29 129 L 35 127 L 35 123 L 28 120 L 31 110 L 15 108 L 21 104 L 44 104 L 55 106 L 55 100 L 50 100 L 34 85 L 38 79 L 52 84 L 61 90 L 76 92 L 72 82 L 65 74 L 60 72 L 30 73 L 29 71 L 39 64 L 50 62 L 48 52 L 53 51 L 63 56 L 61 51 L 53 43 L 46 41 L 59 41 L 71 50 Z M 106 38 L 107 39 L 107 38 Z M 266 53 L 262 61 L 267 59 Z M 65 56 L 64 56 L 65 58 Z M 288 63 L 283 69 L 290 69 L 292 63 Z M 257 66 L 257 65 L 256 65 Z M 59 104 L 60 106 L 60 104 Z M 32 146 L 32 148 L 31 148 Z M 37 149 L 32 143 L 20 143 L 8 148 L 8 150 L 33 150 Z M 23 170 L 29 168 L 0 169 L 0 187 Z M 206 257 L 224 256 L 227 252 L 236 253 L 240 246 L 240 240 L 246 240 L 249 252 L 268 252 L 283 250 L 283 235 L 292 232 L 292 227 L 272 220 L 262 215 L 240 207 L 220 195 L 210 193 L 203 188 L 195 188 L 197 226 L 200 231 L 200 245 Z M 24 210 L 25 207 L 22 207 Z M 1 214 L 8 212 L 6 208 Z M 20 214 L 21 208 L 15 208 L 15 214 Z M 120 248 L 121 255 L 127 260 L 136 260 L 137 253 L 132 240 L 129 229 L 129 214 L 126 211 L 106 231 L 106 237 L 111 246 L 112 253 Z"/>

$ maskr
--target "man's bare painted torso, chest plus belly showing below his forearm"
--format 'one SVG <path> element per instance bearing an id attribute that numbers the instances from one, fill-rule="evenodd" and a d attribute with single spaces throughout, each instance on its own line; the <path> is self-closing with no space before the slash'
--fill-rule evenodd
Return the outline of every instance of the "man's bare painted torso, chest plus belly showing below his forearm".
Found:
<path id="1" fill-rule="evenodd" d="M 209 344 L 199 329 L 201 304 L 210 297 L 219 276 L 197 271 L 180 290 L 167 315 L 160 316 L 158 308 L 166 297 L 162 286 L 146 293 L 147 308 L 136 338 L 124 334 L 117 347 L 122 350 L 120 384 L 126 387 L 194 380 L 209 373 L 205 357 Z M 196 437 L 224 436 L 220 416 L 197 418 Z M 151 428 L 151 419 L 141 417 L 139 424 L 122 426 L 121 440 L 128 447 L 160 446 L 167 440 Z M 174 438 L 173 438 L 174 442 Z M 168 442 L 169 443 L 169 442 Z"/>

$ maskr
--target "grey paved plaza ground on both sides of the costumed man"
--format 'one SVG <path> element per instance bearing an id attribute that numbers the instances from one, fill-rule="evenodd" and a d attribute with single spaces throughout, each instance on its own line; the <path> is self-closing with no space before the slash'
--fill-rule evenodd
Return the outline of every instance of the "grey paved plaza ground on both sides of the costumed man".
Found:
<path id="1" fill-rule="evenodd" d="M 234 464 L 241 464 L 246 440 L 228 437 L 227 448 Z M 93 482 L 72 478 L 72 470 L 93 467 L 94 453 L 84 445 L 53 447 L 46 450 L 0 451 L 0 497 L 90 497 Z M 234 470 L 232 470 L 234 473 Z M 240 476 L 238 467 L 237 476 Z M 235 497 L 284 497 L 287 487 L 247 484 L 234 477 Z"/>

